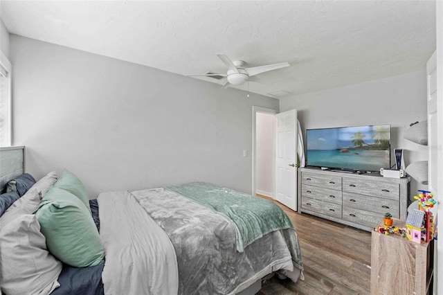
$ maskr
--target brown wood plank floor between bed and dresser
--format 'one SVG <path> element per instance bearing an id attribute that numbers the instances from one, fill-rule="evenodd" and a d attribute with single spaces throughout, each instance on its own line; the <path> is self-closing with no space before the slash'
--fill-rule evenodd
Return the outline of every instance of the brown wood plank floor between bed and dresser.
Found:
<path id="1" fill-rule="evenodd" d="M 296 229 L 305 280 L 293 283 L 274 276 L 257 295 L 370 294 L 371 233 L 275 203 Z"/>

